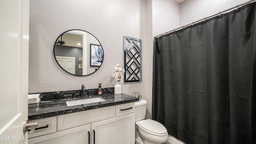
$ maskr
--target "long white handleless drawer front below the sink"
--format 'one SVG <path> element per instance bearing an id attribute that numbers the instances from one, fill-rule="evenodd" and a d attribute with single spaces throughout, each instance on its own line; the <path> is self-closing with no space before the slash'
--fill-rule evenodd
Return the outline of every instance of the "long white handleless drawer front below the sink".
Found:
<path id="1" fill-rule="evenodd" d="M 105 108 L 96 108 L 93 110 L 85 110 L 82 112 L 75 112 L 71 114 L 63 114 L 58 116 L 57 130 L 65 130 L 84 124 L 90 124 L 116 116 L 115 106 L 108 106 Z"/>

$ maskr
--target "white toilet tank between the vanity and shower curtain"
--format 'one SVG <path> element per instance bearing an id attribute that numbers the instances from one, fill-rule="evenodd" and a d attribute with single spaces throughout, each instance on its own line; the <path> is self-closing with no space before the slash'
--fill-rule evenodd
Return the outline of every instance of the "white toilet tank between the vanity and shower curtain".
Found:
<path id="1" fill-rule="evenodd" d="M 147 101 L 135 102 L 135 122 L 143 120 L 146 116 Z"/>

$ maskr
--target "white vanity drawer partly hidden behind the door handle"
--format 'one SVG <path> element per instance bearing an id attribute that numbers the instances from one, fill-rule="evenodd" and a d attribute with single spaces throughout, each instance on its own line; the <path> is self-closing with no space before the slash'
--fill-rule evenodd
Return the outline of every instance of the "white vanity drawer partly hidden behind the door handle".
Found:
<path id="1" fill-rule="evenodd" d="M 42 136 L 44 134 L 50 134 L 57 132 L 57 116 L 42 118 L 38 120 L 30 120 L 29 123 L 38 122 L 36 130 L 32 134 L 28 134 L 28 138 L 34 138 L 36 136 Z M 29 128 L 28 130 L 30 130 Z"/>

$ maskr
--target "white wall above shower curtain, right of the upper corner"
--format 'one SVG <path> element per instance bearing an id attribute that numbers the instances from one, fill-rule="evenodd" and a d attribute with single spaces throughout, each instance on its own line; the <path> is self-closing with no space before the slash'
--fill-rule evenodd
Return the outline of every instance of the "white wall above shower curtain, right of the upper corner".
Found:
<path id="1" fill-rule="evenodd" d="M 185 0 L 180 3 L 180 26 L 190 24 L 248 0 Z"/>

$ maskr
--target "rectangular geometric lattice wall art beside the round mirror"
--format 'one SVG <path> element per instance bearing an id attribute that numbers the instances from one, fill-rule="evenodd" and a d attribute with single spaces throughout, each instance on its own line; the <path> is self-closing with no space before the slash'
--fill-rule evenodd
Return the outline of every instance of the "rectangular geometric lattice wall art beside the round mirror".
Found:
<path id="1" fill-rule="evenodd" d="M 142 81 L 142 44 L 138 38 L 124 36 L 124 82 Z"/>

